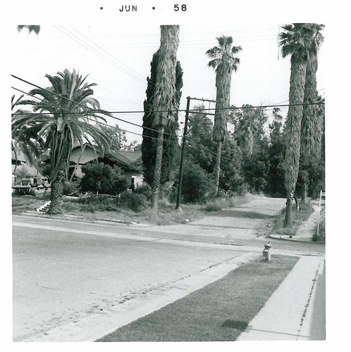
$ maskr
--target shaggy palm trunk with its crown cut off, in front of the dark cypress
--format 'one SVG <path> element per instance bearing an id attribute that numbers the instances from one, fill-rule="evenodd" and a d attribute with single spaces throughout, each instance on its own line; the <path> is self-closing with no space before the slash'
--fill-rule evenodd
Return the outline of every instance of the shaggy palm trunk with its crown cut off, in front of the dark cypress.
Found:
<path id="1" fill-rule="evenodd" d="M 161 25 L 161 44 L 159 64 L 157 65 L 156 84 L 152 111 L 154 112 L 153 128 L 157 129 L 156 158 L 154 179 L 152 180 L 152 208 L 158 212 L 159 187 L 164 143 L 164 130 L 176 120 L 178 110 L 176 95 L 176 64 L 179 45 L 179 26 Z"/>

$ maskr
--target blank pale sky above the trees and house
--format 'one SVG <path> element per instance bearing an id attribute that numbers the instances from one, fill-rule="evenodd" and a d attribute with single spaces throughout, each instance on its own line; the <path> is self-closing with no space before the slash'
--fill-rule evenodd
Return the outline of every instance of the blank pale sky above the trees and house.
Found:
<path id="1" fill-rule="evenodd" d="M 138 11 L 142 11 L 140 6 Z M 278 48 L 278 33 L 284 24 L 278 18 L 267 23 L 182 22 L 179 20 L 179 23 L 171 23 L 180 25 L 177 54 L 183 68 L 180 109 L 185 109 L 187 96 L 216 99 L 216 74 L 207 65 L 210 58 L 206 51 L 218 44 L 216 37 L 221 35 L 233 37 L 233 45 L 242 47 L 242 51 L 236 55 L 240 58 L 240 65 L 232 75 L 230 104 L 261 106 L 288 103 L 290 57 L 282 58 Z M 143 111 L 150 62 L 159 49 L 160 23 L 146 21 L 137 25 L 125 25 L 124 22 L 93 21 L 44 24 L 41 25 L 39 34 L 29 34 L 26 29 L 18 32 L 16 25 L 9 30 L 13 53 L 12 75 L 40 87 L 48 87 L 46 74 L 56 75 L 66 68 L 75 68 L 81 75 L 88 75 L 87 82 L 97 83 L 97 87 L 93 88 L 94 97 L 104 110 Z M 317 71 L 318 89 L 322 95 L 325 92 L 324 58 L 322 46 Z M 34 88 L 13 77 L 11 87 L 23 92 Z M 16 89 L 12 89 L 12 94 L 19 96 L 21 93 Z M 199 103 L 201 102 L 191 101 L 190 108 Z M 214 108 L 214 103 L 204 103 L 204 106 Z M 267 110 L 268 115 L 271 110 Z M 288 108 L 281 108 L 282 115 L 286 115 L 287 111 Z M 143 113 L 113 115 L 142 125 Z M 184 119 L 185 113 L 180 112 L 179 122 Z M 142 137 L 138 134 L 142 134 L 142 128 L 121 120 L 108 118 L 107 123 L 113 126 L 117 123 L 123 130 L 130 131 L 126 133 L 128 142 L 141 142 Z"/>

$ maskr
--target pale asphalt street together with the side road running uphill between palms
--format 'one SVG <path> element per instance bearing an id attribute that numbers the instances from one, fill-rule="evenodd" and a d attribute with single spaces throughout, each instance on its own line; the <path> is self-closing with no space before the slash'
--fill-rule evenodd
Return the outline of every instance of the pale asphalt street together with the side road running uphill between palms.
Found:
<path id="1" fill-rule="evenodd" d="M 64 332 L 245 253 L 261 253 L 267 239 L 259 229 L 282 206 L 280 199 L 262 197 L 192 224 L 163 227 L 13 215 L 13 341 L 36 341 L 57 327 Z M 271 242 L 272 256 L 325 249 Z M 67 328 L 66 339 L 70 334 Z"/>

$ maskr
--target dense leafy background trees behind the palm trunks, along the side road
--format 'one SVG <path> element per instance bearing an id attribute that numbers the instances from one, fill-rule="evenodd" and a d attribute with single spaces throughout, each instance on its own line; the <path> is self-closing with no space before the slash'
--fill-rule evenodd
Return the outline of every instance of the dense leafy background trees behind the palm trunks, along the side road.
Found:
<path id="1" fill-rule="evenodd" d="M 183 201 L 205 202 L 215 196 L 245 194 L 247 191 L 273 197 L 285 196 L 286 122 L 279 108 L 266 111 L 250 105 L 242 108 L 232 106 L 228 125 L 233 132 L 227 133 L 222 144 L 218 193 L 214 175 L 218 151 L 212 137 L 214 122 L 204 113 L 204 105 L 194 106 L 193 110 L 197 112 L 190 113 L 183 172 Z M 320 109 L 319 114 L 324 121 L 323 109 Z M 324 123 L 321 127 L 324 140 Z M 173 182 L 177 184 L 180 147 L 175 149 L 173 163 L 168 162 L 170 168 L 166 172 L 167 175 L 173 175 Z M 301 156 L 300 163 L 297 195 L 302 199 L 307 194 L 315 198 L 319 189 L 324 189 L 323 145 L 318 161 L 316 158 Z M 169 178 L 163 182 L 166 188 L 167 181 Z"/>

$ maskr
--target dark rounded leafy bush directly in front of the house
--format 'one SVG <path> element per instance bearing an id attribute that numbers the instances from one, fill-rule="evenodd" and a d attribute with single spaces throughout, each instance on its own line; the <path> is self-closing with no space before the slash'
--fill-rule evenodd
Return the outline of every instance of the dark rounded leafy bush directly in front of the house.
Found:
<path id="1" fill-rule="evenodd" d="M 82 172 L 85 173 L 80 181 L 82 191 L 116 195 L 128 189 L 128 182 L 116 165 L 90 163 L 82 167 Z"/>

